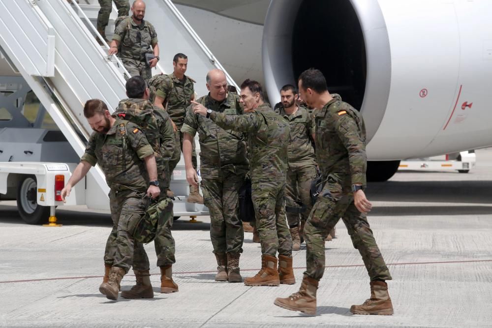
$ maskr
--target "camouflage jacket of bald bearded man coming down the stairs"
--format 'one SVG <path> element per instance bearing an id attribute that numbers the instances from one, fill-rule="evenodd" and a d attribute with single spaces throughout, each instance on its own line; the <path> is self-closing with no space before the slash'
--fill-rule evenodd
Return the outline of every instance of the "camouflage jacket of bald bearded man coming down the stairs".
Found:
<path id="1" fill-rule="evenodd" d="M 113 40 L 121 45 L 118 57 L 145 62 L 145 54 L 154 53 L 151 46 L 157 43 L 157 33 L 151 23 L 143 20 L 137 25 L 130 16 L 118 24 Z"/>

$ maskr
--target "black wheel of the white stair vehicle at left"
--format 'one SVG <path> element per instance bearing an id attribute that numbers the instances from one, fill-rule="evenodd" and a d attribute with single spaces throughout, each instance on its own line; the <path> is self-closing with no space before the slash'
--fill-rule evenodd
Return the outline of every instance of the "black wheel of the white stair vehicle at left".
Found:
<path id="1" fill-rule="evenodd" d="M 48 222 L 50 208 L 37 204 L 36 177 L 26 176 L 17 187 L 17 209 L 21 218 L 28 224 Z"/>

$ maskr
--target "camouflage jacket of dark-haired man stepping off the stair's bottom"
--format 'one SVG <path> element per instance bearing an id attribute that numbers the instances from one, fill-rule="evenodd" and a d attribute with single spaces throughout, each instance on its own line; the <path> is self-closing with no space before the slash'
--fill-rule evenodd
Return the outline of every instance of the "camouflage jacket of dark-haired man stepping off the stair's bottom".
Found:
<path id="1" fill-rule="evenodd" d="M 149 80 L 149 85 L 155 88 L 155 95 L 163 98 L 162 106 L 178 128 L 183 126 L 186 108 L 191 104 L 195 94 L 195 80 L 184 76 L 183 80 L 173 74 L 159 74 Z"/>

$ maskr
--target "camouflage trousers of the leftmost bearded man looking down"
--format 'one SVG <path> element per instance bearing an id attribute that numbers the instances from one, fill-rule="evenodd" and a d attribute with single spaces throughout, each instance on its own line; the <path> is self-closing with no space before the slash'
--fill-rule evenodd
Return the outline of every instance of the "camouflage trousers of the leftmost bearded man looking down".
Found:
<path id="1" fill-rule="evenodd" d="M 106 241 L 104 263 L 123 268 L 125 272 L 134 268 L 149 268 L 149 258 L 141 243 L 135 242 L 128 227 L 140 219 L 147 209 L 145 191 L 122 190 L 109 192 L 109 204 L 113 229 Z M 138 254 L 134 256 L 133 254 Z"/>

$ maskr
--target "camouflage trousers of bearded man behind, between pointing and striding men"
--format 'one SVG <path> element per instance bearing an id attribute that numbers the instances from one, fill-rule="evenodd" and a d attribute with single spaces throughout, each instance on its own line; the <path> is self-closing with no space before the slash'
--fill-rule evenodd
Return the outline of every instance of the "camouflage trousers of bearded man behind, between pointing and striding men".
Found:
<path id="1" fill-rule="evenodd" d="M 312 209 L 310 189 L 311 182 L 316 178 L 316 167 L 308 165 L 299 168 L 289 168 L 287 170 L 287 184 L 285 185 L 285 212 L 289 227 L 299 225 L 299 214 L 301 219 L 306 221 Z M 306 209 L 299 213 L 301 202 Z"/>

